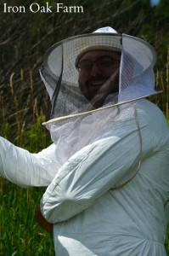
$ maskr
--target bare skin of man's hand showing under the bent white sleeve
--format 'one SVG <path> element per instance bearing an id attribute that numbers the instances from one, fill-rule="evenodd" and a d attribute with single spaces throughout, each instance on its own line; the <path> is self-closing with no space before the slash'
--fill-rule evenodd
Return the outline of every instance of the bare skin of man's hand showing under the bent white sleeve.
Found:
<path id="1" fill-rule="evenodd" d="M 37 223 L 40 224 L 40 226 L 42 226 L 43 229 L 53 234 L 53 224 L 48 223 L 48 221 L 42 216 L 42 212 L 39 205 L 37 205 L 35 211 L 35 218 L 37 220 Z"/>

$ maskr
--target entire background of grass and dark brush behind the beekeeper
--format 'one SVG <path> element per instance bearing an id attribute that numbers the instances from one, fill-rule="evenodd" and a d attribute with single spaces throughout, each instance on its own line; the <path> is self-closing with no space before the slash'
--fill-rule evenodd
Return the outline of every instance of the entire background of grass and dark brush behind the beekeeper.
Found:
<path id="1" fill-rule="evenodd" d="M 37 152 L 50 143 L 41 123 L 48 119 L 48 95 L 38 69 L 45 51 L 54 43 L 77 34 L 112 26 L 144 38 L 157 51 L 156 86 L 164 90 L 153 101 L 168 119 L 169 2 L 151 7 L 148 0 L 64 0 L 82 5 L 84 13 L 3 13 L 8 6 L 32 1 L 0 0 L 0 131 L 12 143 Z M 41 6 L 46 1 L 37 0 Z M 55 1 L 48 1 L 55 9 Z M 0 255 L 54 255 L 52 237 L 37 226 L 34 209 L 44 189 L 21 189 L 0 179 Z M 167 235 L 168 236 L 168 235 Z M 168 238 L 166 250 L 169 253 Z M 169 255 L 169 254 L 168 254 Z"/>

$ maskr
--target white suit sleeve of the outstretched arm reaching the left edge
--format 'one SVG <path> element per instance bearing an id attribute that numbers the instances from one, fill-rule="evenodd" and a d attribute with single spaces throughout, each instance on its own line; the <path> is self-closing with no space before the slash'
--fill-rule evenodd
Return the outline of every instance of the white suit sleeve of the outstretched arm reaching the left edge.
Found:
<path id="1" fill-rule="evenodd" d="M 55 145 L 31 154 L 0 137 L 0 175 L 10 182 L 26 186 L 48 186 L 59 169 Z"/>

